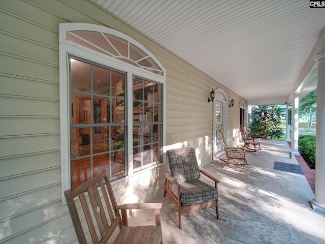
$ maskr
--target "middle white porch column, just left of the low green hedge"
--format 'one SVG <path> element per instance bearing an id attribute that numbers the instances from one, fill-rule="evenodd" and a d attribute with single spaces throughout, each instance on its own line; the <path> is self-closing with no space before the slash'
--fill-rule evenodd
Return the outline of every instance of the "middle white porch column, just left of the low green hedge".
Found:
<path id="1" fill-rule="evenodd" d="M 299 140 L 299 94 L 293 94 L 293 105 L 291 115 L 291 151 L 293 155 L 300 155 L 298 151 Z"/>

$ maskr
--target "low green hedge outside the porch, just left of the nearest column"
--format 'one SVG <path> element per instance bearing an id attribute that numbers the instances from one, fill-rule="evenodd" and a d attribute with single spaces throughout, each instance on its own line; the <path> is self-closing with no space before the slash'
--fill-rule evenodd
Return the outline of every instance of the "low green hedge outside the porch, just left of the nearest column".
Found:
<path id="1" fill-rule="evenodd" d="M 316 136 L 300 135 L 299 136 L 299 150 L 301 156 L 309 160 L 309 167 L 315 169 L 316 161 Z M 306 162 L 308 163 L 308 162 Z"/>

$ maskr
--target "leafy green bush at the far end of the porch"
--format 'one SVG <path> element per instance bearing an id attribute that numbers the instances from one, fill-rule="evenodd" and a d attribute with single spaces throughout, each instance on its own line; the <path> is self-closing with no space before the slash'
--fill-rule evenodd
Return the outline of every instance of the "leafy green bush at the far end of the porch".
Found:
<path id="1" fill-rule="evenodd" d="M 283 135 L 280 127 L 284 116 L 281 108 L 276 105 L 252 106 L 249 129 L 254 136 L 279 139 Z"/>

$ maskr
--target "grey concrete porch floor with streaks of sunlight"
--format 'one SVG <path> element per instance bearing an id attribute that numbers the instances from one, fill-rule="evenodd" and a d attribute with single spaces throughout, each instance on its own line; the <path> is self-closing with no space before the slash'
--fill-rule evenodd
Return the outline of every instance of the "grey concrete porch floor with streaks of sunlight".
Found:
<path id="1" fill-rule="evenodd" d="M 305 176 L 273 169 L 274 161 L 298 164 L 289 158 L 288 144 L 262 140 L 261 145 L 263 150 L 247 152 L 248 172 L 225 169 L 221 161 L 203 167 L 220 180 L 219 220 L 215 208 L 200 210 L 182 215 L 179 230 L 177 208 L 169 196 L 155 199 L 163 202 L 165 244 L 325 243 L 325 216 L 311 208 L 314 194 Z M 147 222 L 148 216 L 141 216 L 140 222 Z"/>

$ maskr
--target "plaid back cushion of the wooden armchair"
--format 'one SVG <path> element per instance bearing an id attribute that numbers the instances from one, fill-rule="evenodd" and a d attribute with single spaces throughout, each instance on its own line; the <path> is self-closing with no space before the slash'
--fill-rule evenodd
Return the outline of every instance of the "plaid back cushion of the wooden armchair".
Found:
<path id="1" fill-rule="evenodd" d="M 200 177 L 200 169 L 194 148 L 167 151 L 168 172 L 177 182 L 187 182 Z"/>

